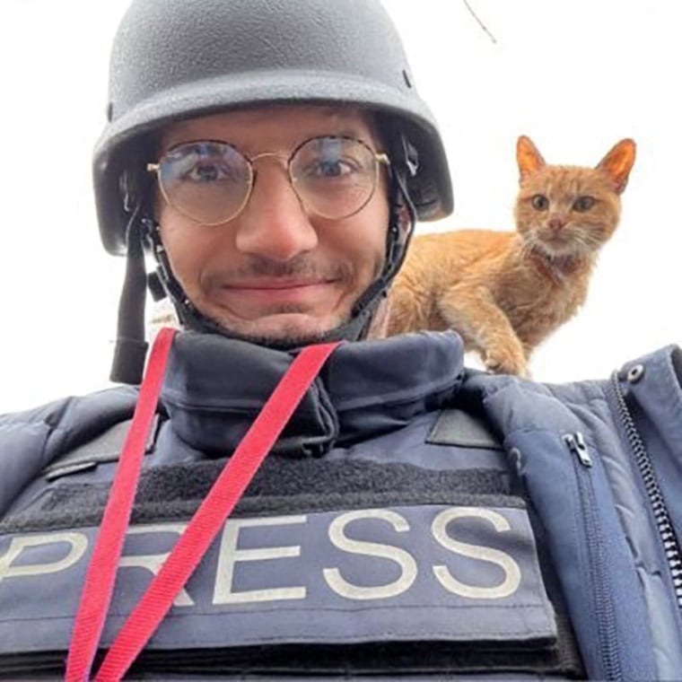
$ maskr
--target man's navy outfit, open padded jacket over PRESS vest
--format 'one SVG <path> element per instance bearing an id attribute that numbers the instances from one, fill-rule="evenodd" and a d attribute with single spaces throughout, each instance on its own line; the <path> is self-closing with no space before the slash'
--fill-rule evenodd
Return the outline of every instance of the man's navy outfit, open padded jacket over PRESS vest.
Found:
<path id="1" fill-rule="evenodd" d="M 290 362 L 176 337 L 104 645 Z M 673 346 L 543 385 L 452 333 L 341 345 L 137 670 L 680 678 L 681 383 Z M 0 417 L 0 675 L 63 663 L 135 404 Z"/>

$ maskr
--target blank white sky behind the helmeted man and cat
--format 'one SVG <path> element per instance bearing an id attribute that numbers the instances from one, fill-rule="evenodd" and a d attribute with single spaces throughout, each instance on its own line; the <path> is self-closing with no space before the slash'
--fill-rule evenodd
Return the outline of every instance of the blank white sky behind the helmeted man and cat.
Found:
<path id="1" fill-rule="evenodd" d="M 330 0 L 330 2 L 333 0 Z M 385 0 L 442 126 L 455 214 L 422 232 L 513 229 L 517 136 L 548 162 L 637 161 L 588 302 L 531 363 L 602 378 L 682 342 L 682 4 L 674 0 Z M 2 0 L 0 412 L 107 385 L 123 261 L 101 249 L 91 186 L 122 0 Z"/>

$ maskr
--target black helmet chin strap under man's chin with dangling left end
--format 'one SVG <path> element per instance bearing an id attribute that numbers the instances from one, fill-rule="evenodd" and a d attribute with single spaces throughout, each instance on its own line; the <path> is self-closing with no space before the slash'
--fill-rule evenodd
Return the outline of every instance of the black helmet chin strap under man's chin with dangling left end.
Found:
<path id="1" fill-rule="evenodd" d="M 332 341 L 358 341 L 367 336 L 372 319 L 380 302 L 386 297 L 393 277 L 402 265 L 407 245 L 414 231 L 416 221 L 415 205 L 407 193 L 403 174 L 393 170 L 389 190 L 389 231 L 386 240 L 386 260 L 381 274 L 354 303 L 350 319 L 336 328 L 314 338 L 267 339 L 245 337 L 224 328 L 213 319 L 206 317 L 192 303 L 182 289 L 170 267 L 159 233 L 159 224 L 144 216 L 141 199 L 127 225 L 127 267 L 126 278 L 118 308 L 118 338 L 110 379 L 129 384 L 139 384 L 144 372 L 144 358 L 147 344 L 144 341 L 144 299 L 149 284 L 153 293 L 168 294 L 178 313 L 179 321 L 186 329 L 208 334 L 219 334 L 250 343 L 258 343 L 277 350 L 292 350 L 311 343 Z M 144 246 L 150 248 L 157 263 L 156 272 L 147 275 L 144 267 Z M 154 283 L 153 280 L 156 280 Z"/>

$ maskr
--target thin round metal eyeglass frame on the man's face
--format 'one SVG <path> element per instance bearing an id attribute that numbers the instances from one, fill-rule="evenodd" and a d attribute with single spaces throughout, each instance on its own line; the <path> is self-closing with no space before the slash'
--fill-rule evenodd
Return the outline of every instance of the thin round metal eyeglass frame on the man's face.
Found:
<path id="1" fill-rule="evenodd" d="M 372 161 L 374 162 L 374 179 L 372 182 L 372 191 L 370 192 L 369 196 L 365 199 L 362 205 L 360 205 L 358 208 L 356 208 L 352 213 L 344 215 L 340 218 L 331 218 L 329 216 L 325 216 L 319 213 L 316 213 L 312 211 L 310 206 L 306 205 L 306 202 L 304 199 L 299 195 L 299 193 L 296 191 L 296 180 L 293 178 L 292 175 L 292 169 L 291 169 L 291 164 L 293 161 L 294 156 L 302 149 L 303 146 L 311 142 L 312 140 L 317 140 L 317 139 L 336 139 L 336 140 L 349 140 L 351 142 L 356 142 L 359 144 L 362 144 L 367 151 L 372 153 Z M 166 194 L 166 190 L 163 188 L 163 183 L 161 179 L 161 167 L 162 167 L 162 162 L 164 157 L 166 157 L 170 152 L 172 152 L 175 149 L 178 149 L 179 147 L 185 145 L 185 144 L 197 144 L 197 143 L 213 143 L 213 144 L 224 144 L 229 147 L 232 147 L 232 149 L 239 153 L 240 156 L 244 159 L 244 161 L 247 163 L 247 167 L 249 168 L 249 189 L 244 197 L 244 200 L 241 202 L 239 208 L 237 211 L 232 214 L 229 218 L 226 218 L 224 220 L 221 220 L 217 223 L 205 223 L 205 221 L 199 221 L 197 218 L 193 218 L 191 215 L 188 215 L 185 213 L 185 211 L 182 211 L 178 208 L 178 206 L 174 205 L 171 201 L 170 198 Z M 179 214 L 184 215 L 186 218 L 191 220 L 193 223 L 197 223 L 199 225 L 205 225 L 206 227 L 215 227 L 217 225 L 223 225 L 225 223 L 231 223 L 235 218 L 237 218 L 243 210 L 246 208 L 246 205 L 249 204 L 249 199 L 251 198 L 251 195 L 253 194 L 253 188 L 256 186 L 256 177 L 257 177 L 257 172 L 256 169 L 254 168 L 253 164 L 254 162 L 258 161 L 258 159 L 264 158 L 264 157 L 275 157 L 277 159 L 282 159 L 286 162 L 286 174 L 289 178 L 289 184 L 291 185 L 293 189 L 293 193 L 296 195 L 296 198 L 299 200 L 299 202 L 302 204 L 303 207 L 309 209 L 312 211 L 313 214 L 318 215 L 321 218 L 325 218 L 327 220 L 345 220 L 346 218 L 350 218 L 353 215 L 359 214 L 363 208 L 370 203 L 372 200 L 372 197 L 374 196 L 374 192 L 376 192 L 377 189 L 377 184 L 379 182 L 379 170 L 380 166 L 384 165 L 387 168 L 390 169 L 390 158 L 389 155 L 385 152 L 376 152 L 375 150 L 372 149 L 372 147 L 364 142 L 363 140 L 360 140 L 356 137 L 350 137 L 350 136 L 341 136 L 341 135 L 319 135 L 319 136 L 312 136 L 309 137 L 305 140 L 303 140 L 300 144 L 297 144 L 293 148 L 293 152 L 289 154 L 289 157 L 287 158 L 284 154 L 282 153 L 276 153 L 276 152 L 261 152 L 256 154 L 255 156 L 248 156 L 247 154 L 243 153 L 240 148 L 236 144 L 232 144 L 231 142 L 227 142 L 226 140 L 214 140 L 214 139 L 197 139 L 197 140 L 188 140 L 186 142 L 179 142 L 178 144 L 174 144 L 172 147 L 167 149 L 164 153 L 162 153 L 161 158 L 159 159 L 158 162 L 148 162 L 146 164 L 146 171 L 149 173 L 155 173 L 156 178 L 159 182 L 159 188 L 161 189 L 161 193 L 163 198 L 165 199 L 166 203 L 172 208 L 174 208 L 176 211 L 178 211 Z"/>

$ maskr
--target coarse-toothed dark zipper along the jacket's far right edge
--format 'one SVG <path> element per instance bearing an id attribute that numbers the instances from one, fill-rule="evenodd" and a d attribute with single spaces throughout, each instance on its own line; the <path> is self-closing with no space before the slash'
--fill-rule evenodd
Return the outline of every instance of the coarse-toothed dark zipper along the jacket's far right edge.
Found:
<path id="1" fill-rule="evenodd" d="M 634 461 L 642 476 L 644 489 L 646 490 L 649 503 L 651 504 L 651 511 L 653 511 L 653 516 L 656 520 L 656 528 L 659 531 L 660 540 L 663 543 L 663 550 L 666 555 L 666 561 L 668 562 L 670 576 L 675 589 L 675 598 L 678 602 L 678 608 L 682 608 L 682 550 L 680 550 L 675 529 L 670 521 L 668 507 L 666 507 L 663 495 L 660 492 L 658 479 L 651 466 L 651 457 L 646 450 L 642 436 L 639 431 L 637 431 L 633 415 L 625 403 L 625 395 L 618 383 L 617 372 L 614 372 L 611 376 L 611 389 L 616 398 L 616 407 L 621 419 L 621 424 L 623 424 L 623 428 L 625 429 L 627 441 L 630 443 L 630 448 L 634 454 Z"/>

